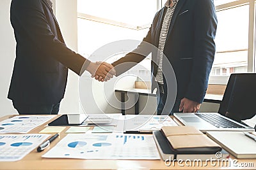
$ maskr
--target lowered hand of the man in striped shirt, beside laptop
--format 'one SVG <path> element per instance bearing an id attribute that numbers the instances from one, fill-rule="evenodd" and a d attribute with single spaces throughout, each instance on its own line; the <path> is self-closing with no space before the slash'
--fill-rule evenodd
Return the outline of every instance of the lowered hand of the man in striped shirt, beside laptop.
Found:
<path id="1" fill-rule="evenodd" d="M 200 109 L 200 105 L 200 103 L 183 98 L 180 101 L 179 111 L 183 110 L 183 113 L 196 113 Z"/>

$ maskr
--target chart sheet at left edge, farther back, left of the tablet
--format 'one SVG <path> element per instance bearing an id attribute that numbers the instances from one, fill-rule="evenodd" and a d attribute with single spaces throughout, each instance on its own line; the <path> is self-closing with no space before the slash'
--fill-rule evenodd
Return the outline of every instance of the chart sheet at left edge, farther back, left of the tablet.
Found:
<path id="1" fill-rule="evenodd" d="M 0 134 L 4 133 L 28 133 L 35 127 L 44 124 L 45 122 L 56 117 L 56 115 L 29 115 L 15 116 L 0 122 Z"/>

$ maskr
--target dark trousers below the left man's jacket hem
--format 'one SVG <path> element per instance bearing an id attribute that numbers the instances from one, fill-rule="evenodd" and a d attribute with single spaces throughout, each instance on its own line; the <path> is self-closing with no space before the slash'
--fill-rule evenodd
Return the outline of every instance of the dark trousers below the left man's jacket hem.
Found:
<path id="1" fill-rule="evenodd" d="M 57 115 L 60 110 L 58 104 L 24 104 L 13 101 L 14 108 L 20 115 Z"/>

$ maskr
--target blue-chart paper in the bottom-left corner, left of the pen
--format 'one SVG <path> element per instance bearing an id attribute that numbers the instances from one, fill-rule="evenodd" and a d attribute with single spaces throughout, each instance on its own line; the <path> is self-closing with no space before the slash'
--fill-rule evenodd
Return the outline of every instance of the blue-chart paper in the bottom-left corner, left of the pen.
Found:
<path id="1" fill-rule="evenodd" d="M 49 134 L 0 134 L 0 162 L 22 159 L 49 136 Z"/>

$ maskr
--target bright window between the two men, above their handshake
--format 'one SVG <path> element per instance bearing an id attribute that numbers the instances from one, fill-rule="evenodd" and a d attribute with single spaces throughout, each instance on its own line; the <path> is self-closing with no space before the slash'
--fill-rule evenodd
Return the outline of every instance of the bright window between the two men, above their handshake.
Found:
<path id="1" fill-rule="evenodd" d="M 159 8 L 160 0 L 78 0 L 78 52 L 89 57 L 108 43 L 125 39 L 141 41 Z M 118 60 L 125 53 L 122 51 L 107 61 Z M 150 62 L 143 60 L 128 73 L 150 81 Z"/>

